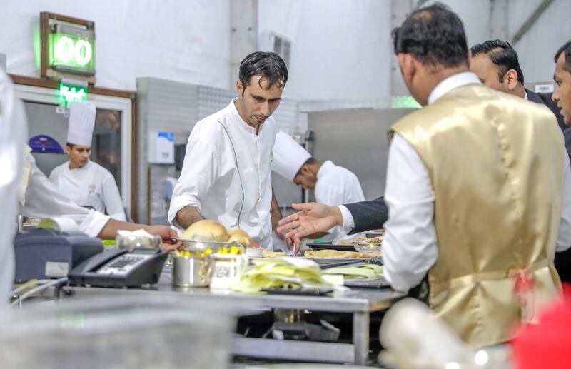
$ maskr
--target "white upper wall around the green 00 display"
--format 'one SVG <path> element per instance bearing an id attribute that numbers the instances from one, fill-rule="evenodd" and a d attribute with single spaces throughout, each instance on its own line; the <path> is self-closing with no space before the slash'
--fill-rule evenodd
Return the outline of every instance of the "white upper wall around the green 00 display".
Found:
<path id="1" fill-rule="evenodd" d="M 137 76 L 228 87 L 230 0 L 2 1 L 0 53 L 11 74 L 39 76 L 39 12 L 95 21 L 96 86 Z M 37 60 L 37 61 L 36 61 Z"/>

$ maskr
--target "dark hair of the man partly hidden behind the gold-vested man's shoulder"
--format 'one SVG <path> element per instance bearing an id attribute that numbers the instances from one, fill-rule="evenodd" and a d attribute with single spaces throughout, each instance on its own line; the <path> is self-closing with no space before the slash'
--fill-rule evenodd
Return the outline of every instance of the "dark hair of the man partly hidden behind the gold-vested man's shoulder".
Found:
<path id="1" fill-rule="evenodd" d="M 472 56 L 486 54 L 492 63 L 497 66 L 497 76 L 500 82 L 504 81 L 504 76 L 510 69 L 517 73 L 517 81 L 523 84 L 523 71 L 520 61 L 517 59 L 517 52 L 507 41 L 488 40 L 482 44 L 475 44 L 470 48 Z"/>

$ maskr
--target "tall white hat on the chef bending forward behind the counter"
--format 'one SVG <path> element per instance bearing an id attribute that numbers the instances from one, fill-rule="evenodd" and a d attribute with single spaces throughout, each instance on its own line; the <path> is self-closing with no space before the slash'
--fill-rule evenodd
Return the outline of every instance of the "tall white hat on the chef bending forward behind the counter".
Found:
<path id="1" fill-rule="evenodd" d="M 295 142 L 288 133 L 278 132 L 273 146 L 272 170 L 293 182 L 295 174 L 311 157 L 305 148 Z"/>

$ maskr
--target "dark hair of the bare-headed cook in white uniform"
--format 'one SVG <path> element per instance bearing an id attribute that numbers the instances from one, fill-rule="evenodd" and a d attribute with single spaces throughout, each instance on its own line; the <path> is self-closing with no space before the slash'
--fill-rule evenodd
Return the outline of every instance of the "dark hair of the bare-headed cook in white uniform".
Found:
<path id="1" fill-rule="evenodd" d="M 244 86 L 242 96 L 244 96 L 246 86 L 250 85 L 253 76 L 261 76 L 260 87 L 262 82 L 266 81 L 266 89 L 271 89 L 273 86 L 282 89 L 285 82 L 288 81 L 288 67 L 285 66 L 283 59 L 278 54 L 256 51 L 246 56 L 240 64 L 238 79 Z"/>

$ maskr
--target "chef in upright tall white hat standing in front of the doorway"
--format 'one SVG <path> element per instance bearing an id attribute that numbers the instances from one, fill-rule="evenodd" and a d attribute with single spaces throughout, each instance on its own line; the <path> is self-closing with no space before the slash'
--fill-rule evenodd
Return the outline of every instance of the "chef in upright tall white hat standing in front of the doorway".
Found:
<path id="1" fill-rule="evenodd" d="M 94 208 L 118 221 L 125 221 L 123 201 L 111 172 L 89 160 L 95 126 L 93 103 L 74 103 L 69 109 L 66 153 L 69 161 L 49 175 L 56 188 L 79 206 Z"/>

